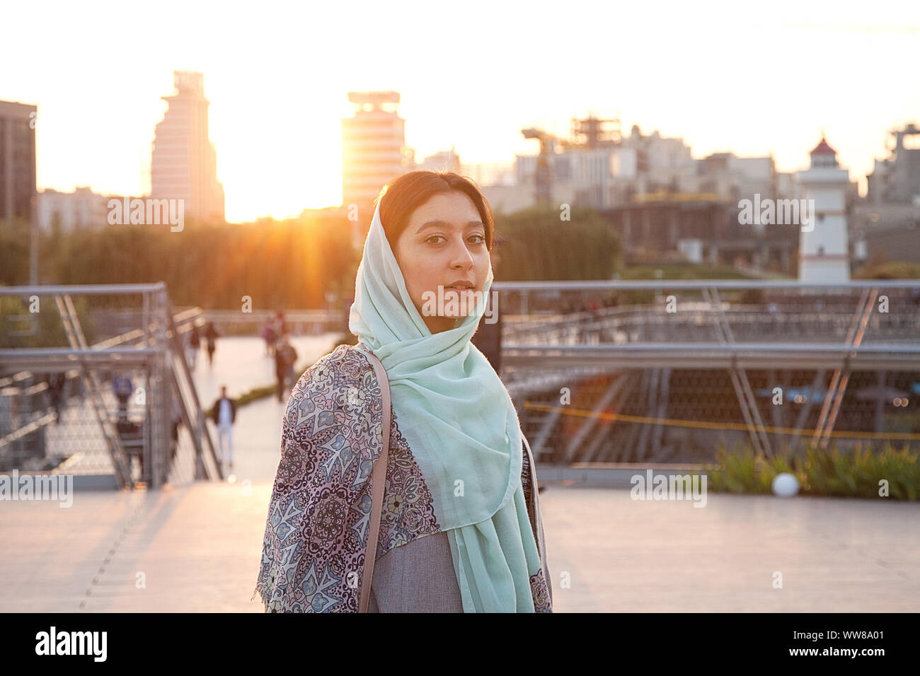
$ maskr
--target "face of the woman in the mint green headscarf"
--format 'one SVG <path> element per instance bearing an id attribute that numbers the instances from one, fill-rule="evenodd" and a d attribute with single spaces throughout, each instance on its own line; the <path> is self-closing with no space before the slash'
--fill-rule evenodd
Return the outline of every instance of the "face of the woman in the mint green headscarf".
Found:
<path id="1" fill-rule="evenodd" d="M 486 226 L 466 193 L 435 195 L 412 212 L 393 254 L 432 334 L 454 328 L 458 319 L 474 314 L 477 300 L 485 301 Z M 467 290 L 452 288 L 464 282 Z"/>

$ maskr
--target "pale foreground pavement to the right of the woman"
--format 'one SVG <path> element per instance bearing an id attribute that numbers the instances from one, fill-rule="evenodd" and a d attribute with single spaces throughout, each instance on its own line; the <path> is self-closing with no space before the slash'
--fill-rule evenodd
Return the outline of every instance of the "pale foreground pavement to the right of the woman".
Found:
<path id="1" fill-rule="evenodd" d="M 559 611 L 920 611 L 917 503 L 709 493 L 700 509 L 552 486 L 541 500 Z"/>

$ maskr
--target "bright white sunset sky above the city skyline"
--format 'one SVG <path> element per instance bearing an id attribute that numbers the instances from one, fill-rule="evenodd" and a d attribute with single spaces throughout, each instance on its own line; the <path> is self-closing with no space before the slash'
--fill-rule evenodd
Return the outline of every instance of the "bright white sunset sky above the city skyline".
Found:
<path id="1" fill-rule="evenodd" d="M 589 111 L 804 168 L 822 128 L 864 181 L 920 123 L 920 4 L 189 0 L 11 3 L 0 99 L 37 104 L 39 188 L 142 194 L 174 70 L 204 74 L 229 221 L 341 201 L 347 93 L 400 92 L 421 160 L 535 154 Z"/>

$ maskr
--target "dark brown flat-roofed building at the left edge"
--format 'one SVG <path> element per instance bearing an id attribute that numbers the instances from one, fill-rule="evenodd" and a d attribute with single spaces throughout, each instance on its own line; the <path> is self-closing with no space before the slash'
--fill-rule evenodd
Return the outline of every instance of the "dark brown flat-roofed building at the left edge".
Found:
<path id="1" fill-rule="evenodd" d="M 0 101 L 0 221 L 32 218 L 37 110 Z"/>

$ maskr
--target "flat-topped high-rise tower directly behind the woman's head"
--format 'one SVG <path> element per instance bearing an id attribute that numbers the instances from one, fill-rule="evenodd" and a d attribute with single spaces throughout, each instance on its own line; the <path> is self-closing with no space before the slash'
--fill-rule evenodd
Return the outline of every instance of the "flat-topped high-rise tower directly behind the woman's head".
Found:
<path id="1" fill-rule="evenodd" d="M 349 92 L 348 99 L 355 110 L 342 119 L 342 203 L 367 205 L 386 183 L 415 168 L 414 153 L 397 113 L 398 92 Z"/>

